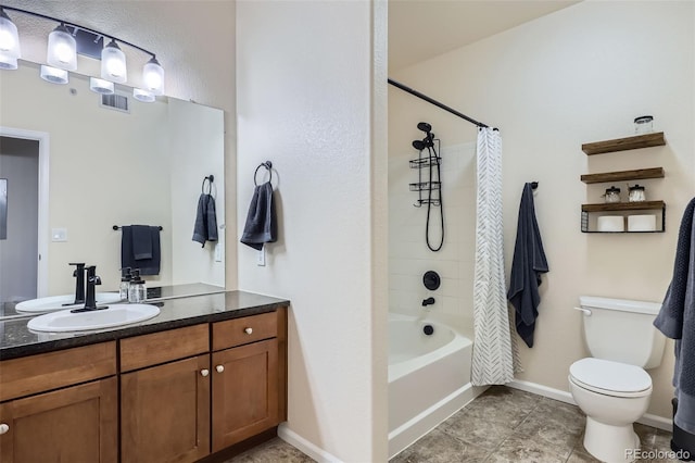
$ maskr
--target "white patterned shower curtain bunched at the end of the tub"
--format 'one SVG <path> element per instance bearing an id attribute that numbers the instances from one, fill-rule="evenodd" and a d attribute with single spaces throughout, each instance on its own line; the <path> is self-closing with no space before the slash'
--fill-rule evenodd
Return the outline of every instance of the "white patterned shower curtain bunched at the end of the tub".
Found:
<path id="1" fill-rule="evenodd" d="M 502 137 L 478 130 L 472 378 L 476 386 L 514 379 L 515 355 L 504 278 Z"/>

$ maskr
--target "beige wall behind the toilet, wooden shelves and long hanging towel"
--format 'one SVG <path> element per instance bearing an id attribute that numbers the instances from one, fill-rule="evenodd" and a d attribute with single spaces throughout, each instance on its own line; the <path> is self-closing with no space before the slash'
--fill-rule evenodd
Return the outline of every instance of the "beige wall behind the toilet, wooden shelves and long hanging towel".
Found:
<path id="1" fill-rule="evenodd" d="M 567 390 L 569 365 L 589 353 L 580 313 L 571 310 L 580 295 L 664 298 L 681 214 L 695 195 L 694 8 L 582 2 L 392 75 L 501 128 L 507 270 L 522 185 L 540 182 L 536 215 L 551 272 L 541 287 L 535 346 L 521 346 L 519 379 Z M 391 162 L 407 161 L 402 153 L 412 151 L 419 120 L 446 145 L 475 140 L 475 127 L 457 117 L 396 89 L 389 99 Z M 592 158 L 581 151 L 584 142 L 631 135 L 642 114 L 655 116 L 666 147 Z M 605 188 L 587 187 L 581 174 L 652 166 L 666 170 L 666 178 L 644 185 L 667 203 L 667 233 L 580 233 L 580 204 L 599 202 Z M 664 364 L 650 372 L 649 413 L 670 417 L 672 370 L 669 341 Z"/>

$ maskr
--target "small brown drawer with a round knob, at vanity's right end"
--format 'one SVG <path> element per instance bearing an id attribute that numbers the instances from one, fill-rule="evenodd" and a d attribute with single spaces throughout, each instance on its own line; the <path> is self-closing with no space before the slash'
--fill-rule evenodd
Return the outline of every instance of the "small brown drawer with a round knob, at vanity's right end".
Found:
<path id="1" fill-rule="evenodd" d="M 217 322 L 213 324 L 213 350 L 275 338 L 277 335 L 277 312 Z"/>

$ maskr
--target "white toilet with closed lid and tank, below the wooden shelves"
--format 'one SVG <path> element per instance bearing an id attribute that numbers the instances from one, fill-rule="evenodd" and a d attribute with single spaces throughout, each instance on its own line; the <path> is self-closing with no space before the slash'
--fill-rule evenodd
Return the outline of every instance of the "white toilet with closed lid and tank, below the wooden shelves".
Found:
<path id="1" fill-rule="evenodd" d="M 666 338 L 653 322 L 661 304 L 582 296 L 584 339 L 592 356 L 569 367 L 569 390 L 586 414 L 584 447 L 608 463 L 634 460 L 640 448 L 632 424 L 646 412 L 652 377 Z M 634 452 L 632 452 L 634 454 Z"/>

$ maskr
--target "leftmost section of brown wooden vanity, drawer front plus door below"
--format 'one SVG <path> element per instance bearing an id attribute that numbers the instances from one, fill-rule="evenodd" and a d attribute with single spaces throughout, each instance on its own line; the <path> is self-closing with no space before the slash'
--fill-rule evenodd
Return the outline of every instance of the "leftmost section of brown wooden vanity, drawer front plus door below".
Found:
<path id="1" fill-rule="evenodd" d="M 0 362 L 0 462 L 116 463 L 115 342 Z"/>

